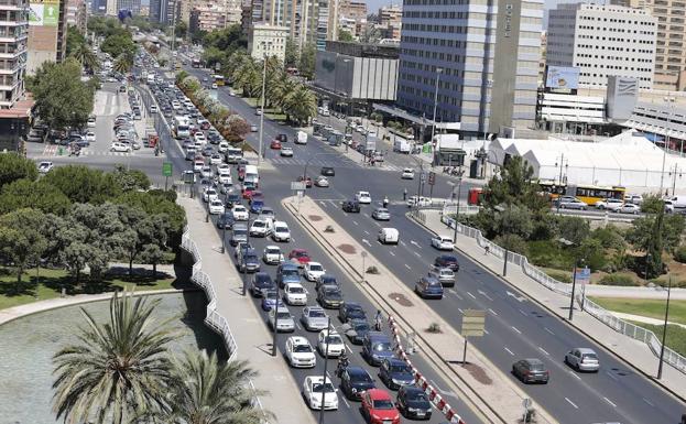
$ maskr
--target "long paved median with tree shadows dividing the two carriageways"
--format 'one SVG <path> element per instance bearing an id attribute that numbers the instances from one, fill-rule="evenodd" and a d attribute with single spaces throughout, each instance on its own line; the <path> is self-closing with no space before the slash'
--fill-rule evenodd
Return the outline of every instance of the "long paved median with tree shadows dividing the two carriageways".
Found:
<path id="1" fill-rule="evenodd" d="M 293 203 L 292 203 L 293 202 Z M 418 349 L 425 359 L 439 370 L 470 409 L 489 423 L 515 423 L 522 416 L 522 401 L 527 398 L 514 383 L 503 377 L 494 365 L 471 347 L 467 366 L 461 365 L 464 338 L 439 314 L 423 302 L 413 302 L 416 295 L 377 260 L 368 249 L 346 232 L 309 197 L 304 197 L 296 210 L 295 198 L 282 200 L 283 206 L 336 260 L 353 281 L 360 281 L 359 270 L 377 267 L 378 274 L 366 273 L 360 287 L 385 314 L 393 316 L 405 334 L 415 333 Z M 333 232 L 325 231 L 327 227 Z M 366 256 L 363 256 L 366 253 Z M 426 331 L 437 323 L 440 333 Z M 421 372 L 421 370 L 418 370 Z M 555 423 L 543 405 L 535 406 L 540 424 Z M 460 411 L 457 411 L 459 414 Z"/>

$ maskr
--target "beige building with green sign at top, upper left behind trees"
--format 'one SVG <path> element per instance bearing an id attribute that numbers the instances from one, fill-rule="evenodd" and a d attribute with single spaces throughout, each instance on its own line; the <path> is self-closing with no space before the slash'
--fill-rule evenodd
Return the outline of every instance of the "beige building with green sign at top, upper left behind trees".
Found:
<path id="1" fill-rule="evenodd" d="M 66 1 L 30 2 L 34 19 L 29 22 L 26 73 L 33 75 L 44 62 L 66 56 Z"/>

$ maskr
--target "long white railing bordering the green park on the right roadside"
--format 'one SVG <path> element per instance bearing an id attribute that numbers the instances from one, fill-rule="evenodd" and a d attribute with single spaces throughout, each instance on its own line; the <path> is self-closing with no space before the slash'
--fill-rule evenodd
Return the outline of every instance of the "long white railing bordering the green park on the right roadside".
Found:
<path id="1" fill-rule="evenodd" d="M 460 211 L 461 211 L 461 208 L 460 208 Z M 447 225 L 449 228 L 455 228 L 455 225 L 456 225 L 455 219 L 448 217 L 446 214 L 442 214 L 440 221 Z M 489 253 L 494 254 L 496 257 L 500 259 L 504 259 L 505 250 L 501 248 L 500 246 L 493 243 L 492 241 L 488 240 L 486 237 L 483 237 L 480 230 L 458 222 L 457 232 L 465 237 L 475 239 L 477 243 L 483 249 L 486 249 L 486 247 L 488 246 Z M 531 279 L 533 279 L 537 283 L 543 284 L 545 287 L 556 293 L 563 294 L 565 296 L 571 295 L 571 284 L 563 283 L 563 282 L 559 282 L 553 279 L 545 272 L 541 271 L 536 267 L 529 263 L 529 259 L 523 254 L 519 254 L 514 252 L 507 252 L 507 254 L 508 254 L 508 262 L 521 267 L 522 272 L 524 272 L 524 274 L 529 275 Z M 660 356 L 660 351 L 662 350 L 662 344 L 660 343 L 660 339 L 657 338 L 657 336 L 655 336 L 653 331 L 618 318 L 611 312 L 602 308 L 601 306 L 589 301 L 588 298 L 581 300 L 581 297 L 579 296 L 577 297 L 577 302 L 579 302 L 582 305 L 584 311 L 588 312 L 591 316 L 594 316 L 595 318 L 597 318 L 598 320 L 600 320 L 608 327 L 614 329 L 616 331 L 620 334 L 623 334 L 635 340 L 640 340 L 646 344 L 647 347 L 651 349 L 651 351 L 655 356 Z M 676 351 L 674 351 L 673 349 L 669 349 L 666 346 L 665 346 L 665 352 L 664 352 L 664 361 L 669 363 L 677 370 L 686 373 L 686 358 L 684 358 L 682 355 L 677 354 Z"/>

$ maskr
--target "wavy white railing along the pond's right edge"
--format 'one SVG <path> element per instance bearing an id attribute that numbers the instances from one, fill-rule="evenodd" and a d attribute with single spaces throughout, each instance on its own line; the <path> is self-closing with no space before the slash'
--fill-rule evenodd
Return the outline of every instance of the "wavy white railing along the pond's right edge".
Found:
<path id="1" fill-rule="evenodd" d="M 190 240 L 190 236 L 188 235 L 187 230 L 184 231 L 181 238 L 181 247 L 193 257 L 194 263 L 190 280 L 199 285 L 203 291 L 205 291 L 207 300 L 209 301 L 209 303 L 207 304 L 207 315 L 205 316 L 205 324 L 215 331 L 217 331 L 219 336 L 221 336 L 227 352 L 229 354 L 229 361 L 232 361 L 233 359 L 236 359 L 236 355 L 238 354 L 236 339 L 233 338 L 231 327 L 229 326 L 227 319 L 217 312 L 217 293 L 215 293 L 215 285 L 213 284 L 209 276 L 205 272 L 203 272 L 203 261 L 200 259 L 200 253 L 197 246 L 195 246 L 195 242 Z"/>

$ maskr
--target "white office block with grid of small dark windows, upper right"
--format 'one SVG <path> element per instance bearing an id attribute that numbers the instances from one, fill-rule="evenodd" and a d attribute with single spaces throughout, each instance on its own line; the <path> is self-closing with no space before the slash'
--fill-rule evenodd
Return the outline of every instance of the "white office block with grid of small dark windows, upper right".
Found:
<path id="1" fill-rule="evenodd" d="M 579 87 L 606 87 L 608 76 L 653 87 L 657 19 L 622 6 L 559 4 L 551 10 L 547 65 L 579 68 Z"/>

